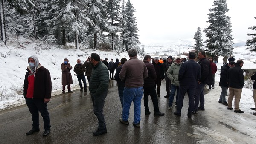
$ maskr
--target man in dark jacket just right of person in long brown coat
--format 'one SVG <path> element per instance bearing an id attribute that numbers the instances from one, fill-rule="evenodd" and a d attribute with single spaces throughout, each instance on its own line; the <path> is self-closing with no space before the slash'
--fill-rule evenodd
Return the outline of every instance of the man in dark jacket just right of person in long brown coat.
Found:
<path id="1" fill-rule="evenodd" d="M 87 92 L 86 80 L 85 80 L 85 76 L 84 76 L 85 66 L 84 66 L 84 64 L 81 64 L 80 59 L 77 59 L 76 62 L 77 62 L 77 64 L 74 67 L 74 72 L 76 72 L 76 77 L 78 79 L 80 91 L 83 91 L 83 85 L 82 85 L 82 81 L 83 81 L 84 92 Z"/>

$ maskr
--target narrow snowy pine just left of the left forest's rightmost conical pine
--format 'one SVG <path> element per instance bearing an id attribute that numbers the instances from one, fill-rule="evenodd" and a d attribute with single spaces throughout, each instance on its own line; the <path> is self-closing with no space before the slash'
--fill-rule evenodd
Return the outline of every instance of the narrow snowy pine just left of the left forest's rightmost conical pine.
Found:
<path id="1" fill-rule="evenodd" d="M 108 12 L 108 32 L 111 35 L 111 50 L 115 49 L 115 37 L 117 37 L 116 33 L 120 31 L 119 28 L 119 15 L 120 15 L 120 0 L 108 0 L 107 3 L 107 12 Z"/>

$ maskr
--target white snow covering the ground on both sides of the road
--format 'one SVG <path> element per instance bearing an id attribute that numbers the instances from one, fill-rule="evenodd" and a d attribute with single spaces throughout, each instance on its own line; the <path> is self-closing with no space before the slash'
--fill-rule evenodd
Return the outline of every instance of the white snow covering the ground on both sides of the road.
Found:
<path id="1" fill-rule="evenodd" d="M 18 47 L 18 48 L 17 48 Z M 39 48 L 40 47 L 40 48 Z M 144 46 L 147 54 L 155 52 L 163 52 L 172 56 L 178 51 L 176 46 Z M 166 52 L 166 49 L 167 52 Z M 187 47 L 182 47 L 181 52 L 187 51 Z M 61 63 L 64 58 L 68 58 L 71 66 L 76 65 L 76 60 L 81 59 L 84 62 L 91 53 L 98 53 L 102 59 L 108 58 L 110 61 L 116 61 L 125 57 L 129 58 L 127 53 L 117 54 L 115 51 L 95 51 L 85 49 L 83 51 L 76 49 L 60 49 L 51 46 L 44 46 L 34 42 L 13 43 L 12 45 L 0 46 L 0 110 L 9 109 L 22 104 L 25 104 L 23 98 L 23 81 L 28 66 L 27 58 L 31 55 L 37 55 L 42 66 L 49 69 L 52 78 L 52 96 L 61 94 Z M 256 52 L 249 52 L 245 46 L 234 49 L 234 57 L 236 60 L 241 58 L 244 60 L 242 69 L 256 69 Z M 140 58 L 141 59 L 141 58 Z M 222 57 L 217 63 L 218 69 L 222 66 Z M 79 89 L 78 81 L 73 70 L 70 71 L 73 75 L 73 84 L 71 90 Z M 242 90 L 240 108 L 244 111 L 243 114 L 234 113 L 234 110 L 227 110 L 227 106 L 218 103 L 221 93 L 221 88 L 218 86 L 219 70 L 215 75 L 215 89 L 211 89 L 205 95 L 205 111 L 199 112 L 198 115 L 204 116 L 209 124 L 208 127 L 192 126 L 194 129 L 194 137 L 204 139 L 198 141 L 200 144 L 240 144 L 255 143 L 256 138 L 256 116 L 252 115 L 255 112 L 250 109 L 254 107 L 252 89 Z M 56 78 L 54 80 L 54 78 Z M 252 87 L 252 86 L 251 86 Z M 226 97 L 227 98 L 227 97 Z M 234 101 L 234 100 L 233 100 Z M 234 108 L 234 106 L 233 106 Z M 192 116 L 193 118 L 193 116 Z M 201 138 L 204 137 L 204 138 Z"/>

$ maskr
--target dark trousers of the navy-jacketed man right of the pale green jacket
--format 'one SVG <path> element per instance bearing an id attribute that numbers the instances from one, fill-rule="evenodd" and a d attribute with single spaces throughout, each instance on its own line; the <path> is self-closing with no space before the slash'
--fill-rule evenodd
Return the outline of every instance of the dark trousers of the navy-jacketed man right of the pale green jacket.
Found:
<path id="1" fill-rule="evenodd" d="M 178 98 L 178 107 L 177 107 L 178 113 L 181 113 L 181 109 L 183 107 L 183 100 L 184 100 L 184 96 L 185 96 L 186 92 L 188 93 L 188 96 L 189 96 L 188 114 L 192 113 L 193 108 L 194 108 L 195 88 L 196 88 L 195 84 L 179 87 L 179 98 Z"/>

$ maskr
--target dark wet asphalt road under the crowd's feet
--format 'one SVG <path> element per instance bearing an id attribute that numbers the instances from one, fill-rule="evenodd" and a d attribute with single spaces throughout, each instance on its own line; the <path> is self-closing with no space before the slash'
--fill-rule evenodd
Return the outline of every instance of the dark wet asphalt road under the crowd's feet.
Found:
<path id="1" fill-rule="evenodd" d="M 133 104 L 130 109 L 129 125 L 119 122 L 122 107 L 116 82 L 110 82 L 108 96 L 105 99 L 104 115 L 108 133 L 93 136 L 98 126 L 93 114 L 93 104 L 89 92 L 66 93 L 52 97 L 48 104 L 51 118 L 51 134 L 43 137 L 43 120 L 40 116 L 40 132 L 25 135 L 32 128 L 32 118 L 26 105 L 0 111 L 0 144 L 195 144 L 204 139 L 194 134 L 192 126 L 207 127 L 204 115 L 200 112 L 187 117 L 188 98 L 185 96 L 182 115 L 173 115 L 176 107 L 167 109 L 168 99 L 165 82 L 162 82 L 159 108 L 164 116 L 154 116 L 154 108 L 149 100 L 150 115 L 145 115 L 143 98 L 140 128 L 132 125 Z"/>

